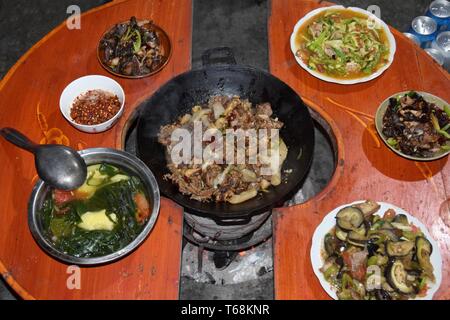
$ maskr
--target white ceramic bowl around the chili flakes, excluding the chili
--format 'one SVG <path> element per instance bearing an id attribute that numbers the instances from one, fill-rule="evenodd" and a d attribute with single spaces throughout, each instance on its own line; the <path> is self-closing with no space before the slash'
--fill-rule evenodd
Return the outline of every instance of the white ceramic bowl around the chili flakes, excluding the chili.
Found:
<path id="1" fill-rule="evenodd" d="M 70 109 L 72 108 L 72 104 L 75 99 L 83 93 L 86 93 L 89 90 L 105 90 L 111 93 L 114 93 L 120 101 L 120 109 L 114 117 L 111 119 L 95 125 L 85 125 L 76 123 L 70 117 Z M 59 98 L 59 108 L 61 110 L 62 115 L 66 118 L 67 121 L 70 122 L 75 128 L 80 131 L 89 132 L 89 133 L 98 133 L 103 132 L 111 128 L 114 123 L 120 118 L 123 113 L 125 106 L 125 93 L 117 81 L 99 75 L 90 75 L 78 78 L 72 81 L 61 93 L 61 97 Z"/>

